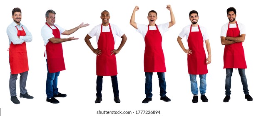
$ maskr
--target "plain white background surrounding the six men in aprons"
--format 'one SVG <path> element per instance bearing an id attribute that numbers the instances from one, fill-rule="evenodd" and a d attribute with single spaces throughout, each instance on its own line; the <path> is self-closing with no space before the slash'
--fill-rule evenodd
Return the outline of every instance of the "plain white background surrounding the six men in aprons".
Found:
<path id="1" fill-rule="evenodd" d="M 135 22 L 148 24 L 147 14 L 150 10 L 158 13 L 156 24 L 170 21 L 169 10 L 166 5 L 171 5 L 176 19 L 176 24 L 169 28 L 163 36 L 162 47 L 165 55 L 167 72 L 167 96 L 170 102 L 160 100 L 157 74 L 153 74 L 153 97 L 148 104 L 142 104 L 144 94 L 144 39 L 129 24 L 134 7 L 139 6 Z M 17 80 L 17 97 L 20 104 L 10 101 L 9 77 L 10 65 L 7 26 L 12 23 L 12 9 L 19 7 L 22 10 L 22 21 L 32 33 L 33 40 L 27 43 L 29 60 L 29 75 L 27 90 L 34 99 L 20 98 L 19 79 Z M 235 7 L 237 10 L 236 21 L 246 25 L 246 39 L 243 43 L 247 69 L 246 77 L 249 92 L 256 98 L 255 79 L 255 27 L 254 5 L 251 0 L 7 0 L 1 3 L 0 35 L 0 108 L 1 116 L 102 116 L 97 111 L 132 111 L 133 114 L 124 116 L 144 116 L 135 114 L 138 110 L 157 110 L 161 114 L 155 116 L 255 116 L 255 99 L 244 99 L 243 87 L 238 70 L 234 69 L 231 82 L 231 99 L 224 103 L 226 70 L 223 69 L 224 45 L 221 45 L 221 26 L 229 20 L 226 9 Z M 65 98 L 57 98 L 59 104 L 46 102 L 45 83 L 47 76 L 46 61 L 43 57 L 45 46 L 40 31 L 45 24 L 45 12 L 52 9 L 56 12 L 55 24 L 65 29 L 77 27 L 82 22 L 89 23 L 70 36 L 80 38 L 75 41 L 62 43 L 66 70 L 60 72 L 58 79 L 59 92 L 67 94 Z M 113 101 L 113 91 L 110 77 L 104 77 L 102 102 L 94 104 L 96 99 L 96 55 L 85 44 L 87 33 L 97 24 L 102 23 L 100 14 L 103 10 L 110 12 L 109 22 L 116 24 L 127 36 L 127 42 L 117 54 L 117 70 L 119 97 L 121 103 Z M 187 55 L 176 41 L 181 29 L 191 24 L 189 12 L 199 12 L 198 24 L 206 27 L 210 36 L 211 64 L 208 65 L 209 73 L 206 77 L 206 96 L 209 102 L 192 103 L 189 74 L 187 72 Z M 61 36 L 68 38 L 70 36 Z M 95 36 L 90 39 L 94 48 L 97 48 Z M 188 48 L 186 39 L 182 39 Z M 117 37 L 116 47 L 121 38 Z M 207 52 L 206 52 L 207 54 Z M 199 80 L 199 77 L 197 78 Z M 254 109 L 254 110 L 253 110 Z M 146 114 L 145 114 L 146 115 Z M 147 114 L 149 115 L 149 114 Z M 121 116 L 117 114 L 104 116 Z M 123 115 L 122 115 L 123 116 Z M 153 116 L 151 114 L 150 116 Z"/>

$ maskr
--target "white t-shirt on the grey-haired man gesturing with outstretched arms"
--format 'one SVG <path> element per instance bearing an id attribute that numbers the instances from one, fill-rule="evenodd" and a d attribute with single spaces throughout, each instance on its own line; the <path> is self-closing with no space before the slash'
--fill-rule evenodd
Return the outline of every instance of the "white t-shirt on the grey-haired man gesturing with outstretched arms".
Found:
<path id="1" fill-rule="evenodd" d="M 66 29 L 60 27 L 57 24 L 54 24 L 59 30 L 60 30 L 60 34 L 62 34 Z M 52 29 L 56 29 L 54 26 L 50 26 Z M 52 29 L 50 28 L 48 25 L 44 25 L 41 29 L 41 36 L 44 40 L 44 44 L 46 46 L 46 44 L 49 42 L 49 39 L 51 39 L 52 37 L 54 37 L 54 35 L 52 34 Z M 45 51 L 45 58 L 47 59 L 47 54 Z"/>

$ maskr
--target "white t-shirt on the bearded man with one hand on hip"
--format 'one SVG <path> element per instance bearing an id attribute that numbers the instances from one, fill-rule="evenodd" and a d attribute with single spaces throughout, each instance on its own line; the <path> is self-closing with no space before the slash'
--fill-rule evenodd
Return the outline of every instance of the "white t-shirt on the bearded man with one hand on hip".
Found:
<path id="1" fill-rule="evenodd" d="M 191 26 L 191 24 L 188 25 L 188 26 L 186 26 L 186 27 L 184 27 L 184 28 L 182 29 L 182 31 L 179 33 L 179 37 L 184 38 L 184 36 L 186 36 L 186 41 L 188 41 L 189 33 L 190 33 L 190 26 Z M 200 26 L 200 25 L 199 25 L 199 27 L 200 27 L 200 30 L 201 30 L 201 33 L 202 33 L 202 36 L 203 36 L 204 41 L 205 41 L 205 40 L 208 40 L 208 39 L 209 39 L 209 35 L 208 35 L 208 33 L 207 33 L 206 28 L 205 28 L 205 27 L 202 27 L 202 26 Z M 191 32 L 196 32 L 196 31 L 199 31 L 198 26 L 197 26 L 197 27 L 193 27 L 193 26 L 192 26 L 192 27 L 191 27 Z"/>

